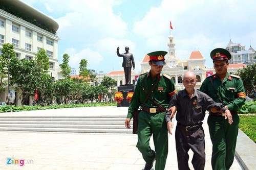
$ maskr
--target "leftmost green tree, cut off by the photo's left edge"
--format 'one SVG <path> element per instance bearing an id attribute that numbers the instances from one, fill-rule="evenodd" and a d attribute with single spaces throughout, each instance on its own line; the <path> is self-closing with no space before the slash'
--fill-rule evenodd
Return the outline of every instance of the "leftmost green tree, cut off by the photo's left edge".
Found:
<path id="1" fill-rule="evenodd" d="M 8 74 L 8 65 L 13 58 L 15 58 L 14 47 L 10 43 L 3 44 L 1 49 L 2 55 L 0 56 L 0 93 L 7 86 L 7 74 Z"/>

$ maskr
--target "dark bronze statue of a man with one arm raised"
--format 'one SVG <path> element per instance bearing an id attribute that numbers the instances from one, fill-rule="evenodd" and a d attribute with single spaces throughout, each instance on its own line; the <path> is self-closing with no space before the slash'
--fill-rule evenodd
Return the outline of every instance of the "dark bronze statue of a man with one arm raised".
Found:
<path id="1" fill-rule="evenodd" d="M 135 69 L 135 63 L 133 59 L 133 54 L 129 53 L 129 47 L 125 46 L 125 53 L 120 54 L 119 53 L 119 46 L 117 47 L 117 56 L 123 57 L 123 70 L 124 70 L 124 76 L 125 76 L 125 84 L 131 84 L 131 70 L 132 66 L 133 69 Z"/>

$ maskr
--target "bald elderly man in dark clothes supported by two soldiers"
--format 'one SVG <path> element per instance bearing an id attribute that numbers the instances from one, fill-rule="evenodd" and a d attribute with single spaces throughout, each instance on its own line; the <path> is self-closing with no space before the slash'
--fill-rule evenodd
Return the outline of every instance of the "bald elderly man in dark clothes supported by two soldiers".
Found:
<path id="1" fill-rule="evenodd" d="M 204 170 L 205 166 L 205 141 L 202 121 L 205 117 L 205 111 L 210 108 L 218 108 L 228 118 L 232 124 L 232 116 L 223 104 L 214 102 L 207 94 L 195 90 L 197 83 L 194 72 L 188 71 L 183 75 L 182 83 L 184 90 L 178 91 L 170 100 L 169 107 L 175 106 L 177 109 L 177 127 L 175 131 L 176 152 L 178 168 L 180 170 L 189 170 L 188 150 L 194 152 L 192 164 L 197 170 Z M 165 116 L 167 128 L 172 134 L 173 123 L 170 119 L 170 112 Z"/>

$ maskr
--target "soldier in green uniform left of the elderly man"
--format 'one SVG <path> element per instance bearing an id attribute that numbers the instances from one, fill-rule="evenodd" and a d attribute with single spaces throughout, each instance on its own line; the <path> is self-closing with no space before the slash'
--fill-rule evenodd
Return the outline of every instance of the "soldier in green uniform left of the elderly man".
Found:
<path id="1" fill-rule="evenodd" d="M 125 120 L 125 127 L 130 129 L 133 111 L 141 107 L 136 147 L 146 162 L 145 170 L 151 169 L 155 160 L 155 169 L 163 170 L 168 153 L 168 133 L 164 117 L 169 100 L 176 90 L 173 79 L 161 72 L 166 54 L 164 51 L 147 54 L 150 56 L 148 64 L 151 70 L 139 76 Z M 155 151 L 150 147 L 152 134 Z"/>

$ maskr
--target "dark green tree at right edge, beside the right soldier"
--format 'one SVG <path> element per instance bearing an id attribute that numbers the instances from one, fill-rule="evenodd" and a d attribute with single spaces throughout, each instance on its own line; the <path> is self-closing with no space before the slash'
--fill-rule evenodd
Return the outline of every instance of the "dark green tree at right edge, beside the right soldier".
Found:
<path id="1" fill-rule="evenodd" d="M 244 83 L 246 94 L 253 98 L 256 93 L 256 63 L 247 65 L 243 69 L 239 69 L 236 75 L 240 76 Z"/>

